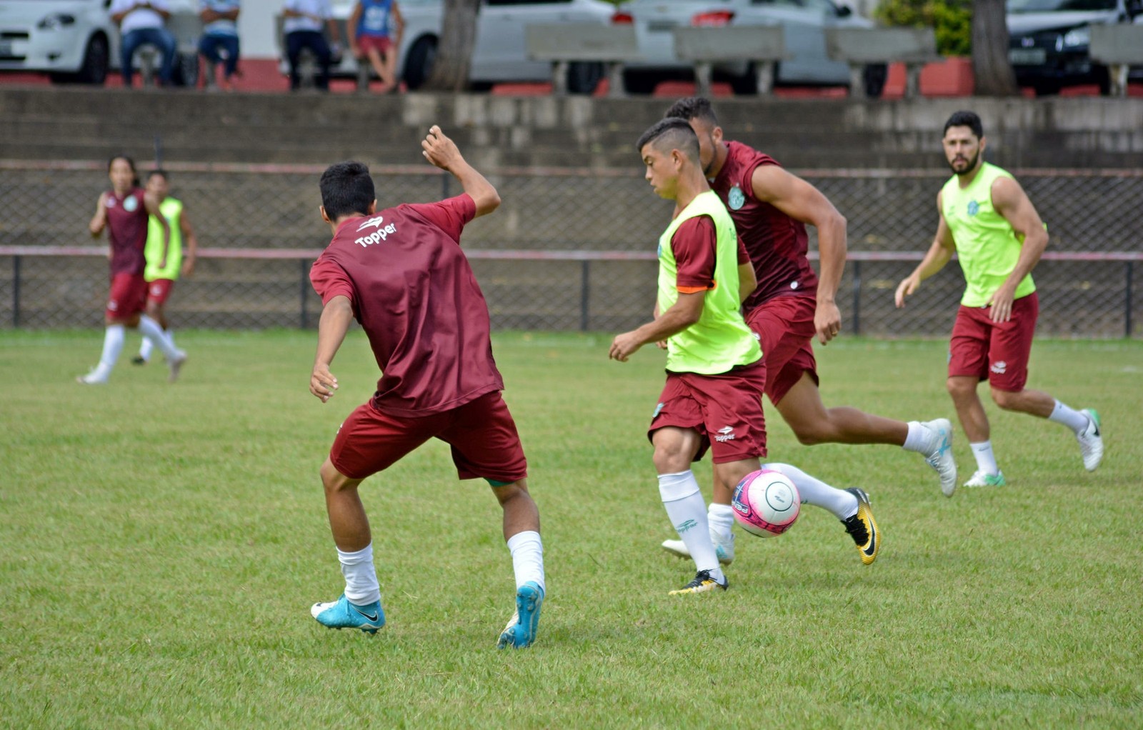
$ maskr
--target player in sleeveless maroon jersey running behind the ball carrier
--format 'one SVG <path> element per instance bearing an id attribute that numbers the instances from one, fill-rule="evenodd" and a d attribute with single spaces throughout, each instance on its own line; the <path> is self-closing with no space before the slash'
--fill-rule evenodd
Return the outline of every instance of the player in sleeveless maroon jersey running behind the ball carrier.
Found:
<path id="1" fill-rule="evenodd" d="M 758 286 L 744 303 L 746 324 L 759 337 L 766 358 L 766 395 L 798 441 L 888 443 L 916 451 L 936 470 L 942 491 L 952 496 L 957 463 L 946 418 L 905 423 L 822 403 L 813 338 L 816 334 L 824 345 L 841 330 L 834 295 L 846 260 L 846 219 L 816 187 L 773 158 L 724 141 L 710 101 L 679 99 L 664 117 L 682 119 L 695 130 L 702 171 L 729 209 L 754 264 Z M 806 256 L 806 224 L 817 228 L 821 279 Z M 710 505 L 711 537 L 724 564 L 734 561 L 735 484 L 716 476 Z M 663 548 L 687 556 L 679 540 L 664 540 Z"/>

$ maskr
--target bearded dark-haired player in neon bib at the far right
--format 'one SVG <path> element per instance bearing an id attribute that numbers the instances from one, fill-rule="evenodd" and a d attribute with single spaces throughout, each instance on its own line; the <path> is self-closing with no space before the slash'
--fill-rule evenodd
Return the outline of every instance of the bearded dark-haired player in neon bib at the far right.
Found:
<path id="1" fill-rule="evenodd" d="M 957 254 L 966 286 L 952 327 L 946 386 L 976 457 L 976 472 L 965 487 L 1005 483 L 976 392 L 984 379 L 1004 410 L 1070 428 L 1090 472 L 1103 459 L 1100 415 L 1090 408 L 1073 410 L 1042 391 L 1024 387 L 1040 311 L 1032 268 L 1048 244 L 1048 233 L 1016 178 L 984 161 L 986 144 L 975 112 L 957 112 L 945 122 L 942 145 L 953 175 L 936 196 L 940 222 L 933 244 L 897 286 L 896 304 L 904 306 L 905 297 Z"/>

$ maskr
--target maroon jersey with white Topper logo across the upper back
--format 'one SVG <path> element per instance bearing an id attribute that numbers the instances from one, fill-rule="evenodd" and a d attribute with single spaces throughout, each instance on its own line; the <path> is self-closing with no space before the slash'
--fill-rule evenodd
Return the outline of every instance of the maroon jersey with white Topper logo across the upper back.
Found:
<path id="1" fill-rule="evenodd" d="M 461 250 L 475 215 L 462 194 L 350 218 L 310 271 L 322 303 L 343 295 L 353 305 L 382 371 L 378 410 L 427 416 L 504 388 L 488 304 Z"/>

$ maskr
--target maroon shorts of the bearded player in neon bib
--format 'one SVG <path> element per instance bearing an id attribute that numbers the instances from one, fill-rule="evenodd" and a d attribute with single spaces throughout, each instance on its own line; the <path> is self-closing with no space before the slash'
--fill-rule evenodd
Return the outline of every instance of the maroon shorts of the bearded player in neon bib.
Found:
<path id="1" fill-rule="evenodd" d="M 949 377 L 988 378 L 998 391 L 1018 393 L 1028 382 L 1039 297 L 1033 291 L 1013 302 L 1007 322 L 990 320 L 989 308 L 961 305 L 957 311 L 949 345 Z"/>

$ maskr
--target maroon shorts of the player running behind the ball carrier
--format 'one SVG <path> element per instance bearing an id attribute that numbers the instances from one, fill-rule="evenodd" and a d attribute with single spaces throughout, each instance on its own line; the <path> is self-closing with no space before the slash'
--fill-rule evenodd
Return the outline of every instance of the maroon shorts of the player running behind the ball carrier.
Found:
<path id="1" fill-rule="evenodd" d="M 758 335 L 766 360 L 766 394 L 770 402 L 790 392 L 802 372 L 817 383 L 817 361 L 810 344 L 817 300 L 807 296 L 782 296 L 762 302 L 746 313 L 746 324 Z"/>

